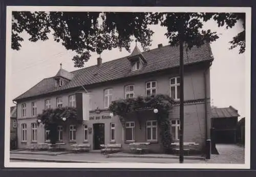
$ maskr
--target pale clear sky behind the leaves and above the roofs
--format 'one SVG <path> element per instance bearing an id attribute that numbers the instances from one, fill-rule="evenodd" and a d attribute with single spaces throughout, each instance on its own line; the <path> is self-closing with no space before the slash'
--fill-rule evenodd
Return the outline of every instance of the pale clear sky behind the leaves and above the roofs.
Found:
<path id="1" fill-rule="evenodd" d="M 151 26 L 155 32 L 150 49 L 157 48 L 159 43 L 168 45 L 168 39 L 164 36 L 166 29 L 159 25 Z M 229 50 L 229 41 L 233 36 L 241 32 L 242 24 L 238 23 L 232 29 L 219 28 L 214 21 L 204 24 L 204 29 L 216 31 L 220 38 L 211 43 L 214 61 L 210 68 L 210 92 L 211 104 L 217 107 L 233 106 L 238 109 L 241 117 L 245 116 L 245 55 L 239 54 L 239 48 Z M 62 68 L 67 71 L 78 70 L 72 61 L 75 52 L 68 51 L 54 41 L 49 35 L 49 40 L 30 42 L 27 33 L 20 34 L 24 38 L 19 51 L 11 51 L 11 99 L 23 94 L 40 80 L 56 75 L 62 63 Z M 135 47 L 135 42 L 131 45 L 131 51 Z M 138 44 L 142 51 L 142 48 Z M 96 53 L 91 54 L 91 58 L 86 62 L 85 67 L 97 63 Z M 125 49 L 119 51 L 103 51 L 102 62 L 118 59 L 130 55 Z M 12 104 L 14 105 L 14 104 Z M 10 106 L 12 106 L 10 105 Z"/>

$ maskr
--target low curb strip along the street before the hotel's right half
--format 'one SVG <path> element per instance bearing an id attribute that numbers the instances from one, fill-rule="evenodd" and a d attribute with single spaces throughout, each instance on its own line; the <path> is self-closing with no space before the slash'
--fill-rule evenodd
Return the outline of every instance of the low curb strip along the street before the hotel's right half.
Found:
<path id="1" fill-rule="evenodd" d="M 108 154 L 106 155 L 107 158 L 152 158 L 152 159 L 179 159 L 179 157 L 168 157 L 168 156 L 140 156 L 140 155 L 129 155 L 125 156 L 122 154 Z M 184 159 L 186 160 L 205 160 L 204 157 L 186 157 L 184 156 Z"/>

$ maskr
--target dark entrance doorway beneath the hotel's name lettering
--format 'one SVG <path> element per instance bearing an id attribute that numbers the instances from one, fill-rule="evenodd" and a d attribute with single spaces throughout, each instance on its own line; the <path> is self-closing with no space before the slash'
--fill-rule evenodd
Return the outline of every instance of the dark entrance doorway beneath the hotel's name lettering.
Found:
<path id="1" fill-rule="evenodd" d="M 103 123 L 95 123 L 93 124 L 93 135 L 94 135 L 94 149 L 100 149 L 100 145 L 104 144 L 104 124 Z"/>

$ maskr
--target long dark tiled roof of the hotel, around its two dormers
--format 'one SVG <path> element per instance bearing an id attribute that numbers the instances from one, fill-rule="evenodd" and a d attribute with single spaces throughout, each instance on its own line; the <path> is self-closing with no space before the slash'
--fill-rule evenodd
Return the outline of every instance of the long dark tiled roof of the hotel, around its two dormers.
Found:
<path id="1" fill-rule="evenodd" d="M 62 87 L 55 86 L 54 77 L 41 80 L 30 90 L 18 96 L 14 100 L 38 96 L 60 90 L 67 90 L 81 85 L 90 85 L 120 78 L 151 73 L 169 68 L 179 67 L 179 47 L 164 46 L 153 50 L 142 52 L 146 63 L 141 70 L 132 71 L 131 63 L 127 57 L 103 62 L 101 65 L 93 65 L 71 72 L 74 77 Z M 193 64 L 201 61 L 212 61 L 209 44 L 200 48 L 193 47 L 187 52 L 184 50 L 184 64 Z"/>

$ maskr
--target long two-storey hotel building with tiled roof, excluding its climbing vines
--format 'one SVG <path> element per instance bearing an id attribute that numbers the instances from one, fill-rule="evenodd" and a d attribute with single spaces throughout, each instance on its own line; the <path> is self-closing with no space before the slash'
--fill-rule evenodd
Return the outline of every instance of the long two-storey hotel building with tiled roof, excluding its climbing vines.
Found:
<path id="1" fill-rule="evenodd" d="M 88 114 L 82 122 L 63 121 L 57 127 L 58 141 L 67 149 L 72 144 L 118 143 L 128 151 L 132 142 L 150 142 L 150 150 L 162 152 L 156 114 L 148 110 L 125 117 L 124 124 L 108 110 L 118 99 L 166 94 L 175 101 L 169 110 L 170 132 L 179 141 L 179 48 L 159 45 L 157 49 L 68 72 L 60 69 L 15 98 L 17 102 L 18 148 L 49 142 L 49 130 L 37 124 L 37 115 L 47 108 L 78 106 L 77 93 L 87 95 L 82 107 Z M 184 52 L 184 142 L 198 143 L 203 150 L 210 137 L 210 46 Z M 79 105 L 81 106 L 81 105 Z"/>

